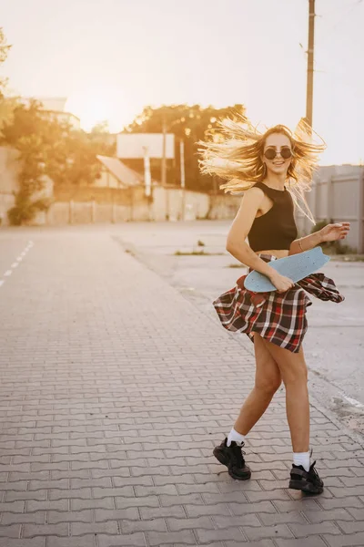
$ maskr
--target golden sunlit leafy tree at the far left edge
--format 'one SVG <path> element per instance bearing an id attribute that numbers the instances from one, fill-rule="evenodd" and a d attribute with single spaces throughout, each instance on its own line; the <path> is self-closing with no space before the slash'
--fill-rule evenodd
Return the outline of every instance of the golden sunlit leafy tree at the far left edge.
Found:
<path id="1" fill-rule="evenodd" d="M 55 114 L 43 111 L 36 101 L 15 108 L 13 119 L 3 125 L 1 144 L 18 150 L 22 164 L 20 190 L 8 212 L 9 222 L 14 224 L 31 222 L 37 211 L 47 207 L 46 200 L 35 199 L 35 193 L 44 188 L 45 176 L 55 186 L 91 185 L 101 174 L 96 155 L 114 152 L 104 133 L 73 129 Z"/>

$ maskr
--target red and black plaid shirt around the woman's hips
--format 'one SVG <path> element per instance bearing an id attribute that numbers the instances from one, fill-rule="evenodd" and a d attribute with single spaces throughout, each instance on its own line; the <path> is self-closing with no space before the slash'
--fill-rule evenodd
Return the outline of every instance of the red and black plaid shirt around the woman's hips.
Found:
<path id="1" fill-rule="evenodd" d="M 266 262 L 277 260 L 269 254 L 261 254 L 260 258 Z M 332 279 L 324 274 L 311 274 L 282 294 L 248 291 L 244 287 L 245 278 L 246 275 L 240 277 L 234 288 L 213 302 L 221 324 L 229 331 L 245 333 L 251 340 L 257 332 L 294 353 L 299 351 L 308 328 L 306 308 L 312 302 L 305 291 L 320 300 L 337 303 L 344 300 Z"/>

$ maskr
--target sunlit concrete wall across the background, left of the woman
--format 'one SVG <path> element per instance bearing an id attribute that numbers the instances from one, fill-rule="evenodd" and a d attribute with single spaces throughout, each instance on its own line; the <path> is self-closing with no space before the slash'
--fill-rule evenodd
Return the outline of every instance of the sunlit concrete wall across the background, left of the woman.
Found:
<path id="1" fill-rule="evenodd" d="M 0 214 L 7 223 L 6 212 L 13 206 L 17 191 L 16 150 L 0 147 Z M 114 175 L 106 170 L 94 186 L 53 187 L 45 180 L 38 197 L 52 202 L 47 212 L 38 212 L 34 224 L 62 225 L 91 222 L 193 221 L 196 219 L 232 219 L 238 212 L 241 197 L 208 195 L 183 191 L 179 187 L 154 186 L 147 198 L 143 186 L 120 189 Z"/>

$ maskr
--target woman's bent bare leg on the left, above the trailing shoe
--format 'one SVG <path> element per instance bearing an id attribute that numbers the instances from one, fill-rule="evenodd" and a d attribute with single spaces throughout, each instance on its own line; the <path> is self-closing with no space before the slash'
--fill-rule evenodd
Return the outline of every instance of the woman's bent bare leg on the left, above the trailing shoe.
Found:
<path id="1" fill-rule="evenodd" d="M 278 365 L 258 333 L 254 335 L 254 349 L 256 355 L 255 386 L 248 395 L 234 425 L 234 429 L 241 435 L 247 435 L 258 422 L 282 382 Z"/>

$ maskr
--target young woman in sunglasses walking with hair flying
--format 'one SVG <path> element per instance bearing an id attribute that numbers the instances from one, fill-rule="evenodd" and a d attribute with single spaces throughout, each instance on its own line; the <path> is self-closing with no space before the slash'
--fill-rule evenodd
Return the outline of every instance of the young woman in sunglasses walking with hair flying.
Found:
<path id="1" fill-rule="evenodd" d="M 222 325 L 246 333 L 254 342 L 256 356 L 255 386 L 214 455 L 234 479 L 250 478 L 241 450 L 245 437 L 283 381 L 293 448 L 289 488 L 321 493 L 323 482 L 315 469 L 316 461 L 310 463 L 309 453 L 308 370 L 302 340 L 307 330 L 306 308 L 311 301 L 303 289 L 321 300 L 342 302 L 344 297 L 324 274 L 312 274 L 294 284 L 269 262 L 343 239 L 349 232 L 349 222 L 328 224 L 319 232 L 297 239 L 294 210 L 299 208 L 314 222 L 304 191 L 309 189 L 319 152 L 325 147 L 312 142 L 303 121 L 294 134 L 281 125 L 260 134 L 246 119 L 243 122 L 221 122 L 218 140 L 200 143 L 200 165 L 203 172 L 228 180 L 220 186 L 225 191 L 244 191 L 227 235 L 227 251 L 247 264 L 249 271 L 266 275 L 277 290 L 250 293 L 244 287 L 243 276 L 214 302 Z"/>

